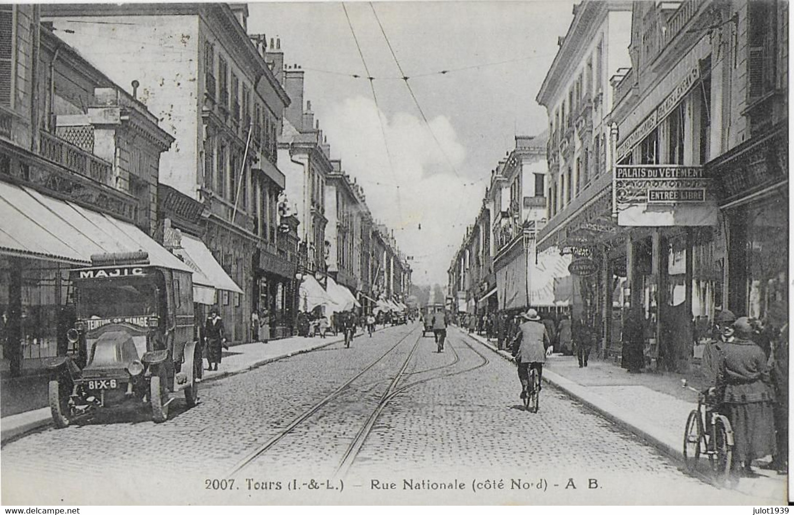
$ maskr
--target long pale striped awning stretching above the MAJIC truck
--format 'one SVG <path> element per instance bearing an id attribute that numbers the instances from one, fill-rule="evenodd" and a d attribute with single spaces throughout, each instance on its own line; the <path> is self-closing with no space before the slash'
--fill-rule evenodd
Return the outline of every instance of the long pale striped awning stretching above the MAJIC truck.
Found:
<path id="1" fill-rule="evenodd" d="M 135 225 L 25 186 L 0 182 L 0 220 L 6 255 L 90 265 L 92 254 L 144 251 L 152 265 L 192 271 Z"/>

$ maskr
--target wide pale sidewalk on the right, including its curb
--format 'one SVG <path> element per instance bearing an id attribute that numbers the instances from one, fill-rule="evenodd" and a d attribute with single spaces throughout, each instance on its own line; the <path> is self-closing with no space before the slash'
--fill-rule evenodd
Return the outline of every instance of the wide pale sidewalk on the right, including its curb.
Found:
<path id="1" fill-rule="evenodd" d="M 504 359 L 511 359 L 510 352 L 497 350 L 484 336 L 468 336 Z M 553 355 L 543 367 L 545 382 L 680 462 L 684 460 L 684 425 L 689 412 L 697 408 L 695 392 L 681 387 L 683 377 L 669 373 L 628 374 L 599 359 L 590 359 L 588 367 L 580 368 L 576 356 Z M 788 476 L 757 467 L 755 470 L 759 477 L 739 479 L 735 490 L 766 502 L 783 502 Z"/>

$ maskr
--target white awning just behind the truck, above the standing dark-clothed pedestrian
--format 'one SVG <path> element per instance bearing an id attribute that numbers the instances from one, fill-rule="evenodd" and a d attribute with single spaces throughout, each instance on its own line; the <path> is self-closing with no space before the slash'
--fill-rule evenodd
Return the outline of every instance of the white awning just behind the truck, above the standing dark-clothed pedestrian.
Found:
<path id="1" fill-rule="evenodd" d="M 221 263 L 210 249 L 195 236 L 182 234 L 182 248 L 176 253 L 182 256 L 193 271 L 193 300 L 199 304 L 214 304 L 215 290 L 227 290 L 241 294 L 240 286 L 226 274 Z"/>

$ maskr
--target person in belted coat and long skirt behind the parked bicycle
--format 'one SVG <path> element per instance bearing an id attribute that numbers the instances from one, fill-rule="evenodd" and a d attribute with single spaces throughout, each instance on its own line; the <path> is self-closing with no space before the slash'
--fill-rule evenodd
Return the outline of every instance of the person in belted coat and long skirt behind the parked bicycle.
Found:
<path id="1" fill-rule="evenodd" d="M 733 467 L 753 477 L 756 458 L 775 455 L 774 392 L 764 351 L 750 338 L 754 328 L 747 317 L 734 322 L 735 339 L 725 344 L 717 377 L 730 426 L 734 430 Z"/>

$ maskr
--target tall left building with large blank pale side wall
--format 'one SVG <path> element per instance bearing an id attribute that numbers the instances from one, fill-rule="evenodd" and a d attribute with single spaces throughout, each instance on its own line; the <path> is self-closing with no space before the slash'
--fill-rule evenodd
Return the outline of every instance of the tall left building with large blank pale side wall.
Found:
<path id="1" fill-rule="evenodd" d="M 160 182 L 206 206 L 195 236 L 238 286 L 215 303 L 229 340 L 249 340 L 251 311 L 276 312 L 294 275 L 276 245 L 284 188 L 276 138 L 289 104 L 268 65 L 278 48 L 268 55 L 264 37 L 249 37 L 245 4 L 52 5 L 44 15 L 110 77 L 134 79 L 137 96 L 176 137 Z"/>

